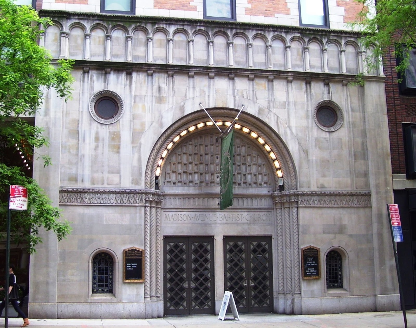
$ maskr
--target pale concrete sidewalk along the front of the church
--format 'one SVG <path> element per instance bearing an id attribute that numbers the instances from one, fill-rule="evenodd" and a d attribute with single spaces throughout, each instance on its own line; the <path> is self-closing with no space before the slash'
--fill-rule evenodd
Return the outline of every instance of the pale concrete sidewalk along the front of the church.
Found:
<path id="1" fill-rule="evenodd" d="M 416 328 L 416 311 L 407 311 L 408 328 Z M 9 318 L 9 327 L 22 325 L 22 318 Z M 4 327 L 4 318 L 0 319 Z M 227 315 L 171 316 L 156 319 L 30 319 L 29 328 L 402 328 L 402 312 L 364 312 L 292 316 L 275 313 L 240 314 L 240 321 Z"/>

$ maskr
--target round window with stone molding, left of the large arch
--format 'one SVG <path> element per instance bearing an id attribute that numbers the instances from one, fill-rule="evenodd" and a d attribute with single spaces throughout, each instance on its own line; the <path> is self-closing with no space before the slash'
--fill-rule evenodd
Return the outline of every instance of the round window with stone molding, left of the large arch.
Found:
<path id="1" fill-rule="evenodd" d="M 114 91 L 102 90 L 92 96 L 89 113 L 99 123 L 111 124 L 118 121 L 123 114 L 123 100 Z"/>

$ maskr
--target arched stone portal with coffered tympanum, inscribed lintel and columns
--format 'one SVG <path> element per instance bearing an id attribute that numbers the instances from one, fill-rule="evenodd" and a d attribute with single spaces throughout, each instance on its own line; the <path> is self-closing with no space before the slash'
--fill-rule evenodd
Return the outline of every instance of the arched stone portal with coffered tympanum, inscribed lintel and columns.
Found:
<path id="1" fill-rule="evenodd" d="M 222 130 L 226 122 L 232 122 L 238 113 L 237 109 L 230 108 L 207 110 L 215 122 L 222 122 Z M 213 222 L 200 224 L 198 221 L 227 214 L 235 219 L 244 217 L 245 222 L 229 226 L 238 229 L 238 234 L 272 236 L 274 252 L 277 253 L 272 261 L 273 272 L 277 276 L 273 294 L 278 295 L 278 299 L 274 298 L 274 311 L 299 312 L 295 165 L 285 143 L 267 123 L 244 111 L 237 123 L 240 128 L 235 128 L 234 204 L 224 212 L 218 205 L 220 143 L 216 137 L 220 133 L 203 110 L 175 121 L 161 134 L 151 150 L 145 171 L 145 187 L 162 197 L 149 196 L 145 200 L 144 296 L 149 308 L 155 311 L 163 308 L 163 236 L 214 235 L 220 240 L 221 236 L 230 233 L 227 226 Z M 278 170 L 283 176 L 280 188 Z M 173 222 L 174 217 L 183 215 L 191 217 L 186 222 L 186 228 Z M 255 222 L 259 217 L 260 220 L 265 218 L 264 221 Z M 217 260 L 221 261 L 220 258 Z M 216 289 L 215 298 L 221 297 L 220 290 Z M 292 301 L 287 303 L 288 299 Z M 163 312 L 158 316 L 163 316 Z"/>

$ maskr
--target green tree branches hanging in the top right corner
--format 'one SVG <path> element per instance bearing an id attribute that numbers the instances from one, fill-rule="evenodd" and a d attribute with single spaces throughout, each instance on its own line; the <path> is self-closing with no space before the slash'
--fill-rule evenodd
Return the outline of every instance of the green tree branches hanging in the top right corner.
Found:
<path id="1" fill-rule="evenodd" d="M 363 32 L 362 44 L 372 53 L 366 57 L 369 70 L 374 70 L 379 58 L 389 54 L 399 58 L 396 71 L 404 73 L 409 67 L 409 51 L 416 45 L 416 1 L 415 0 L 355 0 L 362 10 L 354 29 Z"/>

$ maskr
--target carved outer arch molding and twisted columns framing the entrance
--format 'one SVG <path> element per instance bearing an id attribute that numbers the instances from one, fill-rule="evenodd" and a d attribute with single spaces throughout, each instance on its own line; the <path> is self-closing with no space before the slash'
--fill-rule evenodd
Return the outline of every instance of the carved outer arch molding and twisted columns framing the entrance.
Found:
<path id="1" fill-rule="evenodd" d="M 238 110 L 226 108 L 208 109 L 215 121 L 233 121 Z M 184 130 L 198 123 L 210 121 L 204 111 L 196 111 L 182 117 L 164 131 L 152 149 L 146 165 L 145 187 L 155 188 L 156 169 L 163 152 L 172 140 Z M 242 112 L 239 124 L 256 131 L 262 139 L 273 149 L 283 173 L 283 190 L 295 192 L 297 190 L 297 175 L 295 165 L 285 143 L 277 133 L 264 121 L 248 113 Z M 184 137 L 186 138 L 186 136 Z M 166 156 L 166 154 L 164 155 Z M 163 157 L 164 157 L 163 156 Z M 274 188 L 278 188 L 278 177 L 275 176 Z M 159 190 L 158 190 L 159 191 Z M 159 191 L 160 192 L 160 191 Z M 274 192 L 270 198 L 274 204 L 276 231 L 273 236 L 277 240 L 277 263 L 274 264 L 277 274 L 275 284 L 275 312 L 300 313 L 300 256 L 299 231 L 297 216 L 297 197 L 282 197 L 281 192 Z M 162 274 L 161 274 L 161 202 L 146 200 L 145 210 L 145 284 L 146 318 L 163 315 Z M 276 280 L 276 279 L 275 279 Z"/>

